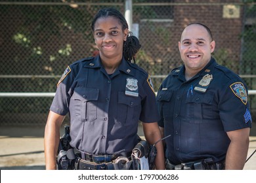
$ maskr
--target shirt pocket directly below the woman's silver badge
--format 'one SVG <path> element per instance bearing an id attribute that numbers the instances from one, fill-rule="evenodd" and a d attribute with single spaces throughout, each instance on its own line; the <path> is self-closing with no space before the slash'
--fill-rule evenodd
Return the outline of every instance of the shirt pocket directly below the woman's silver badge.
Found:
<path id="1" fill-rule="evenodd" d="M 139 122 L 141 112 L 140 97 L 131 97 L 124 92 L 118 92 L 117 122 L 122 125 L 132 125 Z"/>

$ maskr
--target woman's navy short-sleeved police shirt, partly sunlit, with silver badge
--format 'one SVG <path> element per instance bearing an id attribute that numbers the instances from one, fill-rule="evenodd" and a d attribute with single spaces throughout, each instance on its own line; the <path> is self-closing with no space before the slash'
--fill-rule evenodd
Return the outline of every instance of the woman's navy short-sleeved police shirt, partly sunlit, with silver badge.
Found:
<path id="1" fill-rule="evenodd" d="M 50 110 L 69 112 L 71 146 L 91 154 L 131 152 L 139 120 L 160 120 L 150 76 L 125 59 L 108 75 L 99 56 L 67 67 Z"/>

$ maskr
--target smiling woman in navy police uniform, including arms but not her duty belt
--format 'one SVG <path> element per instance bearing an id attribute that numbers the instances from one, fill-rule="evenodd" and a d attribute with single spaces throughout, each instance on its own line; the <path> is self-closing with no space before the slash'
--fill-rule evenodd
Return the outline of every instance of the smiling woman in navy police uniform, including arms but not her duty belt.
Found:
<path id="1" fill-rule="evenodd" d="M 85 159 L 129 156 L 137 144 L 139 120 L 150 144 L 161 139 L 154 90 L 149 75 L 131 63 L 140 44 L 125 18 L 114 8 L 104 8 L 91 28 L 99 56 L 69 65 L 58 82 L 45 127 L 46 169 L 56 169 L 60 125 L 68 112 L 70 144 Z M 157 150 L 156 169 L 164 169 L 161 143 Z"/>

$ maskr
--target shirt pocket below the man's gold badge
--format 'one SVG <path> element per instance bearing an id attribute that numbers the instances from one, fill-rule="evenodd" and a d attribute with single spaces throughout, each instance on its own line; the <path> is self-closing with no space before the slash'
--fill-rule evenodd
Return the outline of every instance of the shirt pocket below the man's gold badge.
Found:
<path id="1" fill-rule="evenodd" d="M 213 118 L 213 93 L 196 93 L 186 98 L 186 118 L 190 123 L 202 124 Z"/>

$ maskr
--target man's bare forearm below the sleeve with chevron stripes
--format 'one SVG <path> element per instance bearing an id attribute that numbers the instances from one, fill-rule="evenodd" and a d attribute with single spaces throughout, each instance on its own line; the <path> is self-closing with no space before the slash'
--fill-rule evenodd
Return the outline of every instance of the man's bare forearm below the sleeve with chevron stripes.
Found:
<path id="1" fill-rule="evenodd" d="M 226 152 L 226 170 L 244 168 L 249 147 L 249 127 L 227 132 L 230 145 Z"/>

